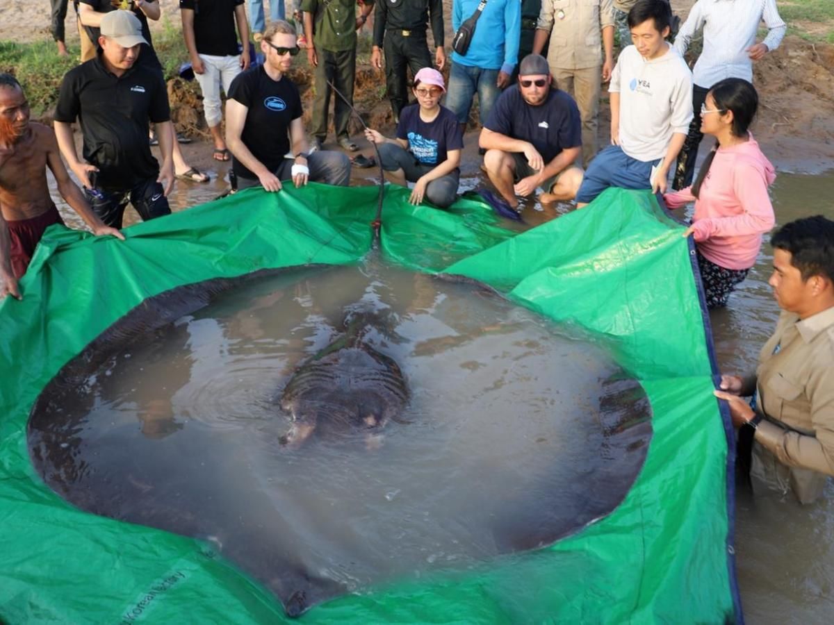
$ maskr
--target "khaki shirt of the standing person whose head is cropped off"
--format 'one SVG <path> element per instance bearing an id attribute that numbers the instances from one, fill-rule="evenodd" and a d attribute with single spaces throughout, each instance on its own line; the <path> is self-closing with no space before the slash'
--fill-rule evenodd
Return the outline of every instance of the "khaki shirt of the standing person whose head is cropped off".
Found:
<path id="1" fill-rule="evenodd" d="M 542 0 L 536 28 L 550 32 L 547 62 L 559 69 L 602 65 L 602 29 L 614 27 L 612 0 Z"/>

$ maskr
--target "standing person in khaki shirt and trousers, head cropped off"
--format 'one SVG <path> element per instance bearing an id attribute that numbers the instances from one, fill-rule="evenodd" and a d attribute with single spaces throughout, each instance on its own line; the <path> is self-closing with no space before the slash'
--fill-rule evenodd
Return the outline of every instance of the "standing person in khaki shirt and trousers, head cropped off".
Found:
<path id="1" fill-rule="evenodd" d="M 612 0 L 542 0 L 533 53 L 541 54 L 548 33 L 547 62 L 556 86 L 570 93 L 582 118 L 582 164 L 597 151 L 600 77 L 608 82 L 614 67 Z M 600 46 L 601 43 L 601 46 Z M 602 47 L 605 47 L 603 58 Z"/>

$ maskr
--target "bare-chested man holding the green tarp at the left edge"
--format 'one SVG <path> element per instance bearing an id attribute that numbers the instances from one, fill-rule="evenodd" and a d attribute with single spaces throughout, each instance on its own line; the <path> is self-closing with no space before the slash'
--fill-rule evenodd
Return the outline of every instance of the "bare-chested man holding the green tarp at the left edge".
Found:
<path id="1" fill-rule="evenodd" d="M 124 238 L 93 213 L 69 178 L 52 128 L 29 121 L 29 105 L 17 79 L 0 73 L 0 298 L 8 294 L 20 298 L 18 279 L 43 231 L 63 223 L 49 197 L 47 167 L 58 191 L 94 234 Z"/>

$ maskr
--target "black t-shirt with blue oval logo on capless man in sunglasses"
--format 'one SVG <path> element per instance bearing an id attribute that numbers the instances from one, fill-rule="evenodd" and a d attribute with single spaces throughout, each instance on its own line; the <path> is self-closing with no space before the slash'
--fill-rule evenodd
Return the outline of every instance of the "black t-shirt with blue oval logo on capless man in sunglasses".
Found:
<path id="1" fill-rule="evenodd" d="M 289 152 L 289 123 L 303 112 L 298 87 L 286 76 L 274 81 L 259 65 L 234 78 L 229 97 L 249 108 L 241 133 L 244 145 L 270 172 L 276 171 Z M 232 168 L 242 178 L 258 178 L 237 158 Z"/>

